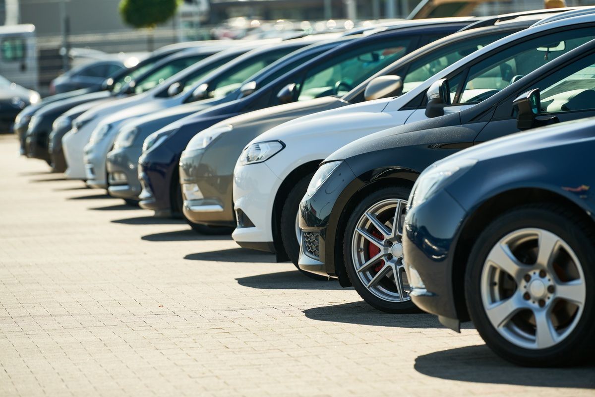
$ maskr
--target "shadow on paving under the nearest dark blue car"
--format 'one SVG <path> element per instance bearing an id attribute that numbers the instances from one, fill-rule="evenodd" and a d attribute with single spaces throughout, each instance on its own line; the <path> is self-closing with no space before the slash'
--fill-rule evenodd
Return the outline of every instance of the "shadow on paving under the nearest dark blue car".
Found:
<path id="1" fill-rule="evenodd" d="M 486 345 L 465 346 L 419 356 L 415 370 L 461 382 L 539 387 L 595 387 L 595 367 L 528 368 L 502 360 Z"/>

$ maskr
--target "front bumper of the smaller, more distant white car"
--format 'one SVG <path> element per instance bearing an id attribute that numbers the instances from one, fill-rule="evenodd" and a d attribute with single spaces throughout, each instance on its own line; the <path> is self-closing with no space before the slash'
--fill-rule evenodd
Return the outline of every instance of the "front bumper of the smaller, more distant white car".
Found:
<path id="1" fill-rule="evenodd" d="M 76 132 L 70 130 L 62 138 L 62 150 L 64 151 L 66 164 L 68 164 L 64 176 L 68 179 L 87 179 L 83 151 L 84 146 L 89 143 L 91 133 L 97 124 L 99 124 L 99 120 L 91 120 Z"/>

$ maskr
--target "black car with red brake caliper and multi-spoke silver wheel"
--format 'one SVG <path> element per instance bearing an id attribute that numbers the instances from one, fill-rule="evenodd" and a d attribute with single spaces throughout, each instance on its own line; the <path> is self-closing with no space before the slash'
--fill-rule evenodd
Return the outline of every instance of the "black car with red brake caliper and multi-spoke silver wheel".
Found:
<path id="1" fill-rule="evenodd" d="M 489 58 L 487 62 L 488 69 L 494 67 Z M 595 115 L 594 64 L 591 40 L 471 108 L 384 130 L 334 152 L 300 204 L 300 268 L 338 277 L 380 310 L 415 310 L 401 240 L 406 203 L 419 174 L 434 161 L 477 143 Z M 471 68 L 479 74 L 469 72 L 467 79 L 484 70 Z M 427 113 L 444 112 L 451 97 L 447 85 L 442 79 L 430 87 Z M 465 86 L 459 84 L 455 98 Z M 529 90 L 515 102 L 515 118 L 513 101 Z M 530 112 L 529 101 L 534 101 L 536 114 Z"/>

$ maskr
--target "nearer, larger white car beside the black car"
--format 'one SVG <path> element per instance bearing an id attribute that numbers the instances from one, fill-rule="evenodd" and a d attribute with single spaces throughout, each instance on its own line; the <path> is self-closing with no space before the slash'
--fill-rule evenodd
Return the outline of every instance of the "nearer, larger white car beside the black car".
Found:
<path id="1" fill-rule="evenodd" d="M 246 248 L 277 252 L 278 258 L 286 254 L 297 265 L 299 202 L 324 158 L 360 137 L 425 120 L 426 114 L 435 117 L 472 107 L 595 38 L 594 27 L 592 8 L 553 15 L 473 52 L 401 96 L 297 118 L 258 136 L 234 170 L 233 239 Z M 436 107 L 431 101 L 427 109 L 428 89 L 441 79 L 450 82 L 452 104 Z"/>

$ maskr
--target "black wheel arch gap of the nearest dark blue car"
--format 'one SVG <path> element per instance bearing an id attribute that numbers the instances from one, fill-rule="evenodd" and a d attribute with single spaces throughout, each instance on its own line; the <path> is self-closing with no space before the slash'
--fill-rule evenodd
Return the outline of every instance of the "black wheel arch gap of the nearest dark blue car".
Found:
<path id="1" fill-rule="evenodd" d="M 500 215 L 515 207 L 528 204 L 561 205 L 578 217 L 584 218 L 595 229 L 595 220 L 587 214 L 581 205 L 571 198 L 543 187 L 513 188 L 499 192 L 483 201 L 464 221 L 453 254 L 451 290 L 455 309 L 461 321 L 469 319 L 465 302 L 465 271 L 476 237 Z"/>

